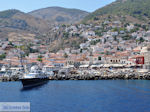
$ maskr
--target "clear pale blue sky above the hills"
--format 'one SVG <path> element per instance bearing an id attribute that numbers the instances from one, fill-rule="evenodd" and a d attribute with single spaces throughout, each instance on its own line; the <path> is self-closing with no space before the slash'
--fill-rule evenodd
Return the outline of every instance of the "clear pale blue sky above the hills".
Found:
<path id="1" fill-rule="evenodd" d="M 92 12 L 113 1 L 115 0 L 1 0 L 0 11 L 18 9 L 23 12 L 30 12 L 35 9 L 60 6 Z"/>

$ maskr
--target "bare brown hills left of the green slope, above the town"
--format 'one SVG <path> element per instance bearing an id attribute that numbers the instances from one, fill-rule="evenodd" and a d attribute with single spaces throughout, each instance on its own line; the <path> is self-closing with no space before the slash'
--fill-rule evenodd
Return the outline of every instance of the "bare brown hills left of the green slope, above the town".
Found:
<path id="1" fill-rule="evenodd" d="M 24 13 L 19 10 L 11 9 L 0 12 L 0 38 L 9 38 L 8 35 L 24 35 L 25 33 L 34 34 L 37 37 L 43 37 L 52 24 L 57 23 L 75 23 L 80 21 L 87 12 L 77 9 L 65 9 L 60 7 L 51 7 L 39 9 L 30 13 Z"/>

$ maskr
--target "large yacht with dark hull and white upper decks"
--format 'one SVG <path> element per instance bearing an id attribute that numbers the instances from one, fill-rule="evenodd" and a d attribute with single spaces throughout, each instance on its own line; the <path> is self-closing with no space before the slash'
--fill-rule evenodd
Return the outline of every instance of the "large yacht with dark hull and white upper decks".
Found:
<path id="1" fill-rule="evenodd" d="M 20 79 L 24 88 L 39 86 L 46 83 L 49 74 L 39 69 L 38 66 L 31 67 L 31 71 L 23 75 Z"/>

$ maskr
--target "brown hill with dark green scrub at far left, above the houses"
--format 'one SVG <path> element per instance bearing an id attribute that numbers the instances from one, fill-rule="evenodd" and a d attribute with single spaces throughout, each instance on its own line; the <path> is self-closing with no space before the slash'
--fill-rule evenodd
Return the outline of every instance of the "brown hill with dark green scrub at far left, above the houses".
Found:
<path id="1" fill-rule="evenodd" d="M 41 36 L 48 30 L 49 25 L 47 21 L 33 17 L 19 10 L 12 9 L 0 12 L 1 39 L 18 40 L 27 37 L 24 39 L 28 40 L 32 37 Z"/>

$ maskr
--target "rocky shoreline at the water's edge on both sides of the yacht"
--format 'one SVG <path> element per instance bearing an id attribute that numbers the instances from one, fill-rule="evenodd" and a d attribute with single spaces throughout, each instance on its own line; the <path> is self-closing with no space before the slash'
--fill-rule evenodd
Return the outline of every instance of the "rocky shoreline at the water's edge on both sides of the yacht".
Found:
<path id="1" fill-rule="evenodd" d="M 19 81 L 19 75 L 0 77 L 0 81 Z M 150 80 L 150 72 L 137 70 L 71 70 L 68 73 L 58 73 L 49 77 L 49 80 Z"/>

